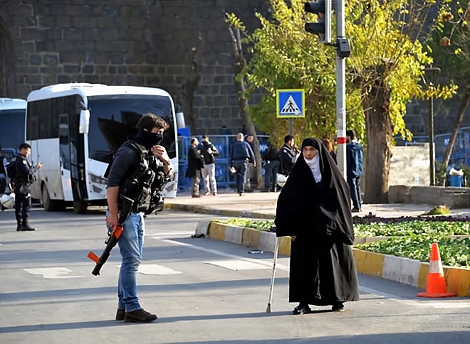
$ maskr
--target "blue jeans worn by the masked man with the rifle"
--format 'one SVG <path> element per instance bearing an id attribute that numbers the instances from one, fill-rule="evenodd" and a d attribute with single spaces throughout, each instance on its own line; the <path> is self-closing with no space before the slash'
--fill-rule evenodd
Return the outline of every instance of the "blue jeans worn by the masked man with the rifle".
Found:
<path id="1" fill-rule="evenodd" d="M 117 308 L 126 312 L 140 309 L 137 297 L 137 269 L 142 261 L 144 247 L 144 214 L 130 213 L 124 223 L 124 230 L 117 244 L 121 252 L 121 269 L 117 282 Z"/>

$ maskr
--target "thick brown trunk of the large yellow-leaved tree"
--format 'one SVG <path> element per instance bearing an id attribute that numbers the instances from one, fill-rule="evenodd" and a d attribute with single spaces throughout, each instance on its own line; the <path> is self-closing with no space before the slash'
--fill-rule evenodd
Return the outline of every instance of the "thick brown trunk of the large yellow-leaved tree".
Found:
<path id="1" fill-rule="evenodd" d="M 364 92 L 364 90 L 363 90 Z M 390 120 L 390 90 L 385 82 L 377 79 L 370 92 L 363 95 L 367 132 L 367 154 L 365 158 L 365 203 L 388 203 L 388 177 L 390 173 L 390 142 L 392 121 Z"/>

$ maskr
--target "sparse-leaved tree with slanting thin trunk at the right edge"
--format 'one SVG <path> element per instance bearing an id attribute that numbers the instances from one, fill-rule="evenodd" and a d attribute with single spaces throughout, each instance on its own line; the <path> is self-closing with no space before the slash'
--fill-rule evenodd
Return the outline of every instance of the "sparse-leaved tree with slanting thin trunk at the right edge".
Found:
<path id="1" fill-rule="evenodd" d="M 428 48 L 434 61 L 442 66 L 444 76 L 455 82 L 462 90 L 461 104 L 456 115 L 449 144 L 444 154 L 444 168 L 450 161 L 464 114 L 470 106 L 470 1 L 455 1 L 443 6 L 439 12 L 441 22 L 429 40 Z M 442 178 L 445 186 L 446 178 Z"/>

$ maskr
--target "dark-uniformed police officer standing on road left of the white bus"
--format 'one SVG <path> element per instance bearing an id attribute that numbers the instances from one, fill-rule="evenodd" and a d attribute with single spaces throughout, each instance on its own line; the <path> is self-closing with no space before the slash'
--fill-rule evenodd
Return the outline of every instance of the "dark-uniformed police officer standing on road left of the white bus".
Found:
<path id="1" fill-rule="evenodd" d="M 28 161 L 28 156 L 31 154 L 31 146 L 23 142 L 19 146 L 19 154 L 16 156 L 14 163 L 15 176 L 12 178 L 12 186 L 16 195 L 15 198 L 15 215 L 16 215 L 16 230 L 36 230 L 28 223 L 29 210 L 31 209 L 31 195 L 29 194 L 31 184 L 35 180 L 34 173 L 43 166 L 43 163 L 38 163 L 32 166 Z"/>

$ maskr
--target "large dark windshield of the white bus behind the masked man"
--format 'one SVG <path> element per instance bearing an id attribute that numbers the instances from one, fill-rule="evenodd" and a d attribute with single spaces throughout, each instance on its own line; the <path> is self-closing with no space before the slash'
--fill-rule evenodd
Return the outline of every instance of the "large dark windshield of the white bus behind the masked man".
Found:
<path id="1" fill-rule="evenodd" d="M 113 153 L 137 132 L 137 120 L 147 112 L 162 117 L 169 125 L 164 131 L 162 146 L 170 158 L 176 156 L 176 138 L 172 103 L 169 97 L 158 95 L 104 95 L 88 97 L 90 158 L 108 163 Z"/>

